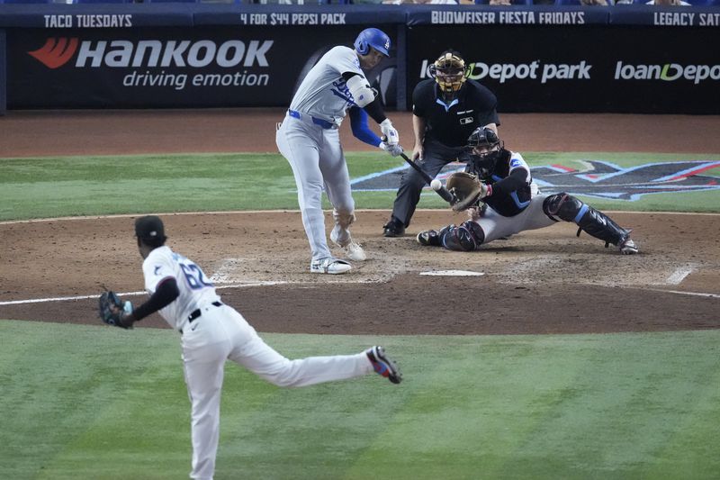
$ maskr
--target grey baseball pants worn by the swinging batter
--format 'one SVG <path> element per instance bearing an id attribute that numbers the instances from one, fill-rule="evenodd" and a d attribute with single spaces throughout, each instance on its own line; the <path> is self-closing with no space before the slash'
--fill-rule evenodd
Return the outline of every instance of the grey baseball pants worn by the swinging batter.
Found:
<path id="1" fill-rule="evenodd" d="M 323 186 L 336 210 L 348 214 L 355 211 L 338 129 L 323 129 L 286 116 L 275 142 L 293 168 L 302 225 L 310 242 L 312 259 L 331 257 L 322 213 Z"/>

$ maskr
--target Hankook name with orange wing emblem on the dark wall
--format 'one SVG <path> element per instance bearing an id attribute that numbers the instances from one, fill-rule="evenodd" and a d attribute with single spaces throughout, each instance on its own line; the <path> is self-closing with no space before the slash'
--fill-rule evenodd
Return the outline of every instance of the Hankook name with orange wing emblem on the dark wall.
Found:
<path id="1" fill-rule="evenodd" d="M 215 64 L 222 68 L 267 67 L 267 51 L 272 40 L 215 41 L 79 41 L 77 38 L 51 37 L 38 50 L 28 53 L 48 68 L 59 68 L 76 55 L 76 68 L 203 68 Z"/>

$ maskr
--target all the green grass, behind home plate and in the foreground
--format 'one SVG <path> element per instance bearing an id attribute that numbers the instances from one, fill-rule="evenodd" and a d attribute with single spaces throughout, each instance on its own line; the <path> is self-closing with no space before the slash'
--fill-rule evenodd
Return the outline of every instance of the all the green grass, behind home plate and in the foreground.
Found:
<path id="1" fill-rule="evenodd" d="M 353 177 L 401 165 L 348 158 Z M 720 156 L 526 158 L 631 166 Z M 0 169 L 0 220 L 257 210 L 258 198 L 297 209 L 277 155 L 10 158 Z M 358 208 L 382 209 L 393 196 L 355 195 Z M 590 203 L 720 212 L 717 191 L 650 196 Z M 419 206 L 444 205 L 429 194 Z M 189 402 L 173 331 L 2 320 L 0 337 L 0 478 L 187 477 Z M 382 343 L 405 381 L 287 390 L 229 364 L 216 479 L 720 478 L 720 331 L 264 337 L 290 358 Z"/>

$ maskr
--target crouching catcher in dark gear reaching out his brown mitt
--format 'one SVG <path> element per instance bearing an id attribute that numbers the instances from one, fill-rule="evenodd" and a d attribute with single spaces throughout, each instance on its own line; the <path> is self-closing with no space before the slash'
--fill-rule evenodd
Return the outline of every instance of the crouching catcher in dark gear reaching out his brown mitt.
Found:
<path id="1" fill-rule="evenodd" d="M 468 149 L 472 153 L 465 172 L 448 177 L 446 186 L 457 199 L 453 210 L 467 210 L 470 220 L 439 231 L 421 231 L 417 237 L 420 245 L 472 251 L 492 240 L 562 220 L 577 224 L 579 236 L 585 231 L 603 240 L 606 247 L 615 245 L 622 254 L 638 252 L 630 230 L 605 213 L 572 195 L 540 195 L 522 155 L 505 149 L 495 131 L 475 129 L 468 139 Z"/>

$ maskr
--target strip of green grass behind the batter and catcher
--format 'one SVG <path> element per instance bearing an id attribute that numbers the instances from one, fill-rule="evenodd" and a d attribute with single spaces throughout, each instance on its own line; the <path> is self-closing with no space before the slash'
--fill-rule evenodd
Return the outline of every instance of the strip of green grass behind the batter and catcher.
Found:
<path id="1" fill-rule="evenodd" d="M 384 153 L 348 153 L 351 177 L 402 166 Z M 623 167 L 659 161 L 720 160 L 720 155 L 527 153 L 530 165 L 604 159 Z M 297 210 L 293 173 L 279 154 L 0 158 L 0 221 L 65 215 L 208 210 Z M 704 175 L 720 177 L 710 170 Z M 394 192 L 359 192 L 358 208 L 388 209 Z M 646 195 L 638 202 L 586 199 L 602 210 L 720 212 L 717 191 Z M 261 206 L 262 205 L 262 206 Z M 329 204 L 326 202 L 326 207 Z M 434 193 L 419 208 L 444 208 Z"/>

